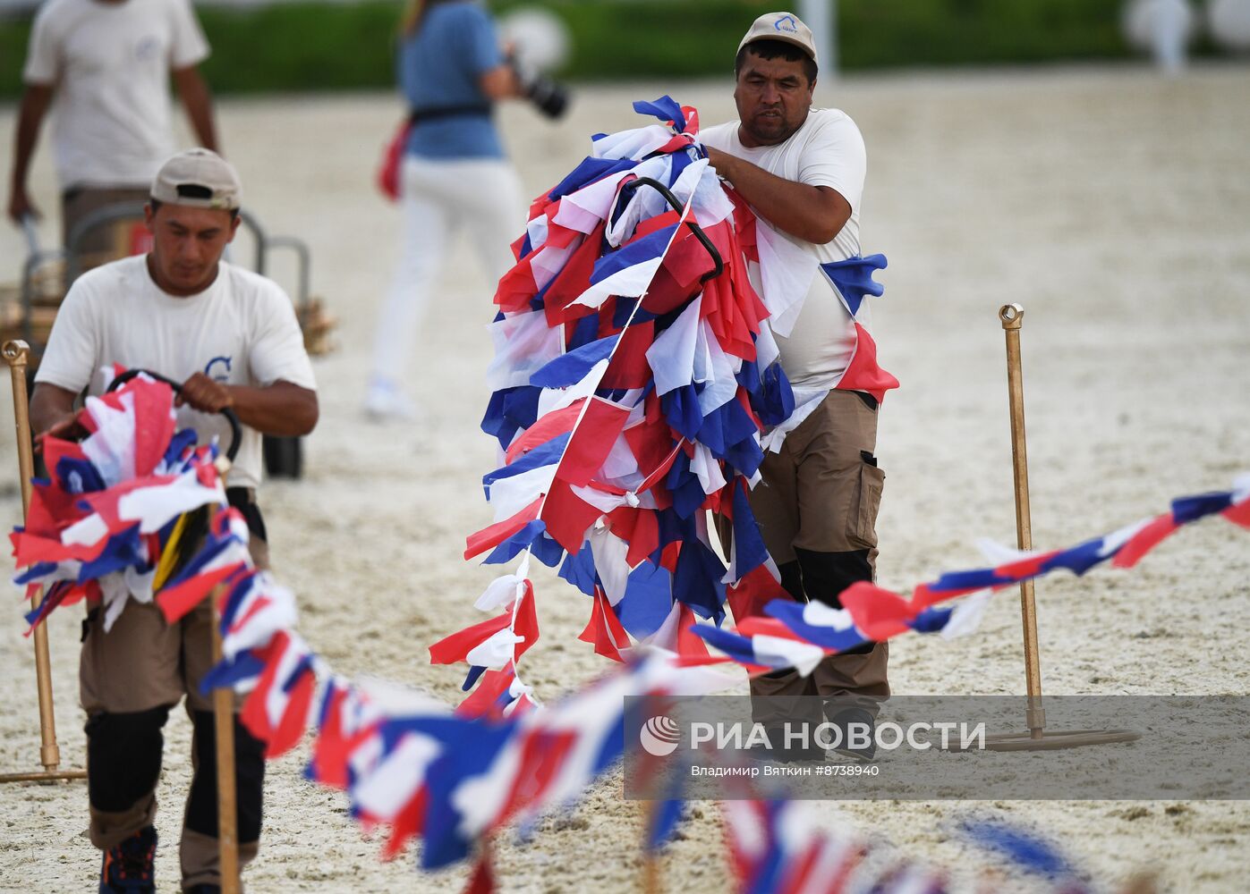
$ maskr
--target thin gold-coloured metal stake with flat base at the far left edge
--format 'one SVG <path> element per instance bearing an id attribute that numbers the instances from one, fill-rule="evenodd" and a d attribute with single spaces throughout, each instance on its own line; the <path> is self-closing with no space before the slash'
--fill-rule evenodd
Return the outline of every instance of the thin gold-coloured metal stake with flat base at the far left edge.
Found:
<path id="1" fill-rule="evenodd" d="M 26 361 L 30 345 L 24 341 L 5 342 L 2 348 L 12 378 L 12 415 L 18 435 L 18 472 L 21 477 L 21 518 L 30 512 L 30 479 L 35 476 L 35 458 L 30 440 L 30 406 L 26 396 Z M 42 591 L 31 596 L 31 608 L 39 607 Z M 35 639 L 35 683 L 39 689 L 39 759 L 44 769 L 29 773 L 0 774 L 0 783 L 46 782 L 52 779 L 86 779 L 86 770 L 60 770 L 61 750 L 56 744 L 56 717 L 52 709 L 52 673 L 48 653 L 48 627 L 39 624 Z"/>

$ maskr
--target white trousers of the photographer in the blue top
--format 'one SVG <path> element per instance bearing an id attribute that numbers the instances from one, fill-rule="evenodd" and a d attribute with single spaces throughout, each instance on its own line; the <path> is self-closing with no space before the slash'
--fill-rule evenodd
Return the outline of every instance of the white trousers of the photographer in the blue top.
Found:
<path id="1" fill-rule="evenodd" d="M 429 305 L 451 248 L 464 225 L 489 280 L 495 283 L 515 262 L 509 245 L 521 233 L 525 215 L 516 171 L 499 159 L 419 159 L 406 156 L 401 171 L 404 212 L 401 257 L 378 318 L 374 378 L 402 383 L 416 327 Z M 489 298 L 480 316 L 489 322 Z"/>

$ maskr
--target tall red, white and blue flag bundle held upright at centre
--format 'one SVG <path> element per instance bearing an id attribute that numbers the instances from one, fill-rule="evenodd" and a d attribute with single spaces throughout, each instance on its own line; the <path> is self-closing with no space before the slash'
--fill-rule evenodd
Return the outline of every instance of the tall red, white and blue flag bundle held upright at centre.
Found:
<path id="1" fill-rule="evenodd" d="M 634 109 L 662 124 L 596 135 L 512 246 L 482 420 L 501 456 L 482 478 L 495 522 L 468 538 L 465 558 L 559 566 L 590 598 L 581 639 L 599 654 L 620 661 L 631 638 L 660 637 L 711 661 L 688 633 L 695 618 L 719 624 L 726 601 L 744 617 L 782 594 L 746 493 L 764 451 L 828 393 L 796 405 L 775 336 L 816 276 L 854 317 L 881 293 L 871 275 L 885 258 L 820 265 L 719 180 L 694 109 L 668 96 Z M 836 387 L 880 397 L 898 383 L 868 331 L 856 335 Z M 732 528 L 728 568 L 708 511 Z M 502 613 L 430 651 L 470 666 L 465 689 L 485 693 L 466 709 L 518 698 L 516 659 L 538 638 L 525 578 L 499 578 L 478 606 Z"/>

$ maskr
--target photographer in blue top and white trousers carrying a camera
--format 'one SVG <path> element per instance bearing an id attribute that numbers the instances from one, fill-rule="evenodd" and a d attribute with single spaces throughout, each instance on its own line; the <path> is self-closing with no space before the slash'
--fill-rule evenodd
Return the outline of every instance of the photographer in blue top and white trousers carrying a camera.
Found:
<path id="1" fill-rule="evenodd" d="M 414 0 L 401 22 L 398 67 L 411 124 L 398 190 L 402 258 L 378 320 L 365 398 L 376 421 L 415 415 L 402 387 L 405 363 L 449 235 L 469 227 L 491 282 L 512 265 L 509 243 L 525 217 L 520 181 L 491 117 L 495 102 L 528 97 L 552 117 L 566 104 L 558 85 L 519 74 L 490 15 L 469 0 Z"/>

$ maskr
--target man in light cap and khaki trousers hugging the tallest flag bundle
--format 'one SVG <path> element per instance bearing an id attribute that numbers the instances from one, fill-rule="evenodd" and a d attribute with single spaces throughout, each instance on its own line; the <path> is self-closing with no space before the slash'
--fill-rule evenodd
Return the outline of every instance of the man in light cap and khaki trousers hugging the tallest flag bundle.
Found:
<path id="1" fill-rule="evenodd" d="M 700 135 L 718 172 L 768 226 L 794 247 L 830 263 L 860 253 L 859 219 L 868 167 L 855 122 L 836 109 L 812 109 L 818 60 L 811 30 L 792 12 L 761 15 L 739 44 L 734 65 L 738 121 Z M 756 283 L 759 286 L 759 283 Z M 855 320 L 866 322 L 865 312 Z M 795 391 L 828 396 L 765 454 L 751 509 L 785 589 L 802 602 L 840 607 L 839 594 L 871 581 L 884 473 L 876 464 L 878 401 L 835 386 L 850 363 L 855 320 L 826 277 L 816 275 L 789 337 L 778 337 L 781 367 Z M 819 400 L 819 397 L 818 397 Z M 786 722 L 845 732 L 871 724 L 889 697 L 886 644 L 831 656 L 810 677 L 794 672 L 751 680 L 752 712 L 766 730 Z M 806 695 L 796 715 L 789 697 Z M 781 697 L 781 698 L 771 698 Z M 781 739 L 781 734 L 776 737 Z M 819 747 L 782 749 L 782 759 L 820 758 Z M 871 757 L 870 748 L 856 749 Z"/>

